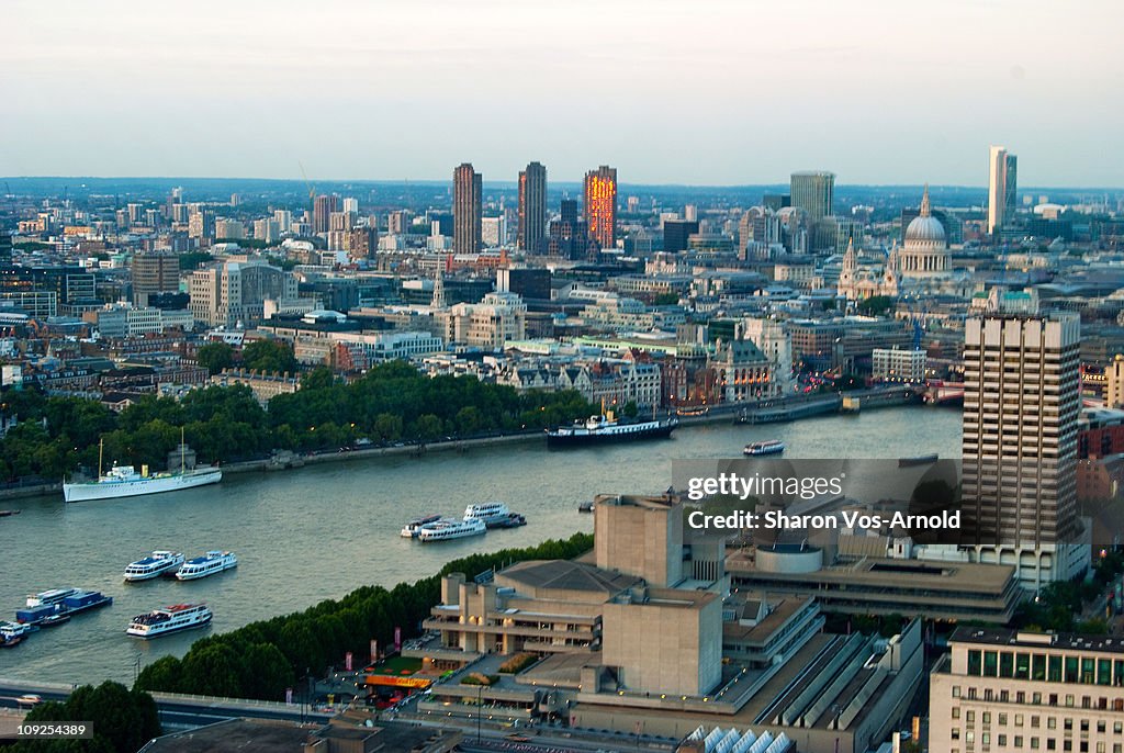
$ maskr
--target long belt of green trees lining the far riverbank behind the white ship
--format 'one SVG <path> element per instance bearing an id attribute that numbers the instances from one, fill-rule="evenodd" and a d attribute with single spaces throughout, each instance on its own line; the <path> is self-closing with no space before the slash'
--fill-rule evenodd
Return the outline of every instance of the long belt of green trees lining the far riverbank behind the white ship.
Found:
<path id="1" fill-rule="evenodd" d="M 281 350 L 272 343 L 246 346 L 259 363 L 291 357 Z M 192 390 L 182 400 L 144 397 L 119 415 L 97 400 L 8 390 L 0 414 L 18 417 L 19 424 L 0 439 L 0 477 L 55 480 L 80 466 L 96 470 L 99 441 L 107 466 L 118 461 L 162 469 L 181 429 L 199 459 L 214 463 L 272 450 L 334 450 L 360 438 L 430 442 L 537 429 L 592 409 L 577 392 L 519 394 L 471 376 L 429 379 L 404 362 L 377 366 L 350 384 L 327 369 L 314 370 L 298 392 L 271 400 L 269 411 L 241 385 Z"/>

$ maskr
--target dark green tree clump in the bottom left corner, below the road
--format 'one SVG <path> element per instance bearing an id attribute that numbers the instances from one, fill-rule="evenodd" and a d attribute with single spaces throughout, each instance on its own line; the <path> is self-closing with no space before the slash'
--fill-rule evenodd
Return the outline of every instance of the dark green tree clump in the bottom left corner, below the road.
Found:
<path id="1" fill-rule="evenodd" d="M 39 704 L 27 719 L 35 722 L 92 722 L 93 738 L 87 741 L 29 741 L 8 749 L 12 753 L 112 753 L 137 751 L 162 734 L 156 701 L 143 690 L 129 690 L 106 681 L 82 686 L 66 702 Z"/>

